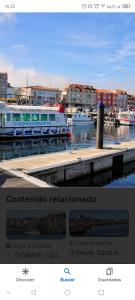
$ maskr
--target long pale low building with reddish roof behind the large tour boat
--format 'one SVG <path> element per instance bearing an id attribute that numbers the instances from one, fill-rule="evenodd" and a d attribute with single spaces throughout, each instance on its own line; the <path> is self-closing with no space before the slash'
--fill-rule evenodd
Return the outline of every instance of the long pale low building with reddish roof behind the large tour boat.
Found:
<path id="1" fill-rule="evenodd" d="M 16 96 L 23 103 L 31 103 L 33 105 L 55 104 L 61 100 L 61 90 L 45 86 L 28 86 L 18 88 Z"/>

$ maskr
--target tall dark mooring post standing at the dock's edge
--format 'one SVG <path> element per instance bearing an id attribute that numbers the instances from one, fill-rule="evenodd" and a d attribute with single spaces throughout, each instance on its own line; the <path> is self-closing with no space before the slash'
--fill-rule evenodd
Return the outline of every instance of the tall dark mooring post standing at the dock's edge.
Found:
<path id="1" fill-rule="evenodd" d="M 97 108 L 97 135 L 96 147 L 103 149 L 103 134 L 104 134 L 104 104 L 100 102 Z"/>

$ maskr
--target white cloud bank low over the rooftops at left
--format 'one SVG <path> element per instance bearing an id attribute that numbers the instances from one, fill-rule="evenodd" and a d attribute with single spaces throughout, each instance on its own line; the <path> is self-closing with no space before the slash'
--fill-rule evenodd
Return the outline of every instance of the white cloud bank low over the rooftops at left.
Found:
<path id="1" fill-rule="evenodd" d="M 48 74 L 40 72 L 35 68 L 16 68 L 9 63 L 4 56 L 0 56 L 0 70 L 8 73 L 8 80 L 15 87 L 26 86 L 27 74 L 29 85 L 44 85 L 50 87 L 62 88 L 72 80 L 61 74 Z"/>

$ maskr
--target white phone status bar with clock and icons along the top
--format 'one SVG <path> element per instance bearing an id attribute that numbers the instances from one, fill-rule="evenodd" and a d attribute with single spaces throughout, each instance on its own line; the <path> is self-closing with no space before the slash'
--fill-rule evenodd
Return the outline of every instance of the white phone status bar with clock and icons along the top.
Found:
<path id="1" fill-rule="evenodd" d="M 16 12 L 135 12 L 134 0 L 1 0 L 0 13 Z"/>

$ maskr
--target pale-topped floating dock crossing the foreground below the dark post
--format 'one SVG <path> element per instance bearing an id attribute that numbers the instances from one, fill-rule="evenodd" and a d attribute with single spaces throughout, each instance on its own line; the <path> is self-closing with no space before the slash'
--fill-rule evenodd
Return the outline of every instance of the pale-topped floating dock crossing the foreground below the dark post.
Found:
<path id="1" fill-rule="evenodd" d="M 36 155 L 0 162 L 3 174 L 20 178 L 21 186 L 52 187 L 77 177 L 94 174 L 135 160 L 135 141 L 107 145 L 104 149 L 85 148 L 51 154 Z M 4 173 L 6 172 L 6 173 Z M 8 179 L 6 185 L 16 187 L 17 181 Z M 18 186 L 18 185 L 17 185 Z"/>

